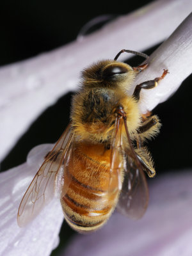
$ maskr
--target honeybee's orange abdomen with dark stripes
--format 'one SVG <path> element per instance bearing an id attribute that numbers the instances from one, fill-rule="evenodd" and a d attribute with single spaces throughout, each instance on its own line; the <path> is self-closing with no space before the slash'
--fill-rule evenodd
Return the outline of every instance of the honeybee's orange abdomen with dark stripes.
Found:
<path id="1" fill-rule="evenodd" d="M 109 186 L 110 154 L 104 145 L 77 143 L 64 174 L 61 205 L 68 224 L 79 232 L 101 227 L 118 199 L 118 180 Z"/>

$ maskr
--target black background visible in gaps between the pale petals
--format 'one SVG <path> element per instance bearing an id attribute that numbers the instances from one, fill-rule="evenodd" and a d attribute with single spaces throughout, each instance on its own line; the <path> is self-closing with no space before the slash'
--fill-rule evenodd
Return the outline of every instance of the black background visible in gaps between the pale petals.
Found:
<path id="1" fill-rule="evenodd" d="M 142 4 L 133 1 L 127 6 L 104 1 L 102 6 L 99 2 L 92 2 L 91 6 L 83 6 L 82 3 L 77 6 L 71 2 L 2 1 L 0 65 L 25 60 L 76 40 L 80 29 L 94 17 L 104 14 L 113 14 L 116 17 L 152 1 L 142 1 Z M 145 52 L 150 54 L 157 46 L 146 49 Z M 140 59 L 132 58 L 129 63 L 138 65 Z M 47 108 L 37 118 L 3 160 L 1 171 L 26 161 L 26 155 L 35 145 L 54 143 L 58 140 L 68 124 L 71 96 L 72 94 L 68 93 L 61 97 L 54 106 Z M 65 116 L 60 119 L 62 109 L 65 109 Z M 182 83 L 173 97 L 159 104 L 153 112 L 159 116 L 163 124 L 159 136 L 148 145 L 156 163 L 157 176 L 168 170 L 174 175 L 174 172 L 180 172 L 181 168 L 191 167 L 191 77 Z M 54 132 L 50 134 L 49 131 Z M 61 228 L 61 246 L 52 253 L 52 256 L 57 255 L 72 234 L 72 230 L 64 223 Z"/>

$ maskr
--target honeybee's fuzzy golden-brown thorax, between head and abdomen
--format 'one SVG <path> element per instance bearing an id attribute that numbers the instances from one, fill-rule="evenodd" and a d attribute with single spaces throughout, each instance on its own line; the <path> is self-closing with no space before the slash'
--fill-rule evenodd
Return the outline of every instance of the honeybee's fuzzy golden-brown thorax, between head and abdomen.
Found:
<path id="1" fill-rule="evenodd" d="M 72 124 L 74 125 L 74 131 L 82 140 L 108 141 L 111 138 L 115 125 L 116 114 L 113 113 L 113 109 L 118 104 L 124 107 L 129 133 L 132 136 L 136 132 L 140 126 L 141 118 L 138 103 L 132 97 L 125 95 L 124 92 L 102 90 L 101 92 L 104 92 L 102 95 L 108 95 L 111 97 L 111 100 L 108 100 L 108 104 L 103 104 L 102 102 L 100 109 L 98 106 L 90 109 L 90 103 L 85 100 L 88 99 L 90 92 L 91 95 L 97 95 L 95 90 L 84 90 L 84 92 L 74 96 L 72 104 Z M 97 99 L 97 97 L 94 99 Z M 102 97 L 99 99 L 101 101 Z M 122 132 L 123 134 L 125 133 L 124 128 Z"/>

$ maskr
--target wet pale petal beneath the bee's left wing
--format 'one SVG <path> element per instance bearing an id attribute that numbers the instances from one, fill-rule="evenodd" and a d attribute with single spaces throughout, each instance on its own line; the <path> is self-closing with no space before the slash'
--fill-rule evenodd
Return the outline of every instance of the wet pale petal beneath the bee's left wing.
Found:
<path id="1" fill-rule="evenodd" d="M 60 201 L 52 200 L 29 225 L 17 225 L 20 200 L 35 176 L 45 152 L 52 145 L 40 145 L 29 153 L 28 163 L 0 173 L 0 255 L 46 256 L 58 244 L 58 234 L 63 222 Z M 35 154 L 38 149 L 38 154 Z M 33 158 L 34 163 L 31 161 Z"/>

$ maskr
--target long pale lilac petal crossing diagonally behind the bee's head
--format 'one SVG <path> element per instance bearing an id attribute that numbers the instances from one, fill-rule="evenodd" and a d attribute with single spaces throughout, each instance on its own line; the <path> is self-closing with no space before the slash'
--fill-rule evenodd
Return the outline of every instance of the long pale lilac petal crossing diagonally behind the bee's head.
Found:
<path id="1" fill-rule="evenodd" d="M 191 0 L 154 1 L 110 22 L 84 40 L 2 67 L 0 159 L 47 106 L 77 89 L 84 67 L 93 61 L 114 58 L 124 48 L 144 51 L 162 42 L 189 15 L 191 8 Z"/>

